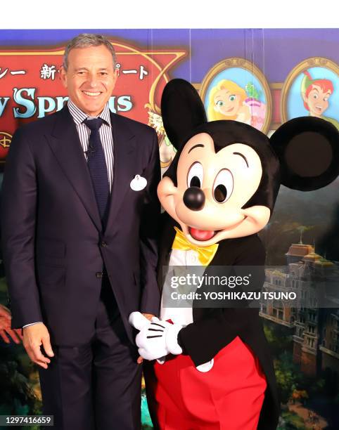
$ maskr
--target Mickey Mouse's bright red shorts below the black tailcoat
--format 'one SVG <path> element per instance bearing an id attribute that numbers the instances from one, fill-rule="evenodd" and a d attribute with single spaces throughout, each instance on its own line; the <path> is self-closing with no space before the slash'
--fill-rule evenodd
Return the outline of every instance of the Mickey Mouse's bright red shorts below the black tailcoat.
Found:
<path id="1" fill-rule="evenodd" d="M 257 429 L 267 383 L 239 337 L 217 353 L 209 372 L 180 355 L 155 362 L 145 378 L 150 412 L 161 430 Z"/>

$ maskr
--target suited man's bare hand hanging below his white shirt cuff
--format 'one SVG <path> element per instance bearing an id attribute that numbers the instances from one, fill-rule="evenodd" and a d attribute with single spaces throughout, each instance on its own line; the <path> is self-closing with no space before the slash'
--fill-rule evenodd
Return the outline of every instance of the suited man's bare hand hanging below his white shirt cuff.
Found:
<path id="1" fill-rule="evenodd" d="M 49 357 L 53 357 L 54 353 L 49 339 L 49 331 L 43 323 L 29 325 L 23 329 L 23 346 L 27 351 L 28 356 L 33 363 L 47 369 L 51 360 L 41 353 L 40 346 L 44 346 L 44 350 Z"/>

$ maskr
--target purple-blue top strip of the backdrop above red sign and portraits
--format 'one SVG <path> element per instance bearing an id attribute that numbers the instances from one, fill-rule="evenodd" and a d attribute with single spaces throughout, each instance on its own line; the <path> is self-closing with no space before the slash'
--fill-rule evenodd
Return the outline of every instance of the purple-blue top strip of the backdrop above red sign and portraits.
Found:
<path id="1" fill-rule="evenodd" d="M 170 71 L 171 77 L 191 82 L 201 82 L 212 65 L 232 56 L 252 60 L 268 82 L 283 82 L 295 65 L 309 57 L 339 63 L 339 29 L 0 30 L 0 47 L 60 46 L 79 32 L 106 34 L 140 48 L 191 46 L 191 56 Z"/>

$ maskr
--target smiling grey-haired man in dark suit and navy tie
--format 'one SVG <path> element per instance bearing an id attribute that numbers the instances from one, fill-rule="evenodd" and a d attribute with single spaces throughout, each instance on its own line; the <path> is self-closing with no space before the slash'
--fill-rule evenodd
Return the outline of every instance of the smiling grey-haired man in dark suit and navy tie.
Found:
<path id="1" fill-rule="evenodd" d="M 6 162 L 4 261 L 13 314 L 56 429 L 140 428 L 128 315 L 158 313 L 158 139 L 111 113 L 113 46 L 80 34 L 60 76 L 70 100 L 18 129 Z"/>

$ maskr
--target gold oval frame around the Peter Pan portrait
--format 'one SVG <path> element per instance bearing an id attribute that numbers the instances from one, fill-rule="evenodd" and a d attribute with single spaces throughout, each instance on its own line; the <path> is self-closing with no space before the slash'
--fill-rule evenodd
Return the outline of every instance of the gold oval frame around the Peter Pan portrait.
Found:
<path id="1" fill-rule="evenodd" d="M 286 102 L 288 93 L 290 91 L 290 87 L 292 86 L 295 78 L 305 70 L 309 69 L 309 67 L 326 67 L 328 70 L 331 70 L 339 77 L 339 65 L 335 63 L 333 60 L 325 57 L 310 57 L 303 60 L 301 63 L 296 65 L 288 74 L 285 82 L 283 83 L 283 88 L 281 89 L 281 104 L 280 104 L 280 113 L 281 113 L 281 124 L 288 121 L 287 117 L 287 108 Z"/>

